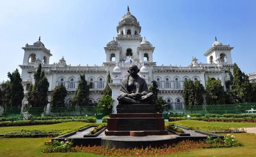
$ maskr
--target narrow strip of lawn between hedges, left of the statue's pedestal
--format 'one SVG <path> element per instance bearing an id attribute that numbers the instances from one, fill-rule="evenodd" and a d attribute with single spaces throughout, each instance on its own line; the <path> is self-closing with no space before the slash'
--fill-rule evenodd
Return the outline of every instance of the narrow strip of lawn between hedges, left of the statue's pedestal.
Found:
<path id="1" fill-rule="evenodd" d="M 6 133 L 10 131 L 20 131 L 21 129 L 73 129 L 78 126 L 86 124 L 85 122 L 65 122 L 59 124 L 50 125 L 32 125 L 32 126 L 7 126 L 0 127 L 0 133 Z"/>

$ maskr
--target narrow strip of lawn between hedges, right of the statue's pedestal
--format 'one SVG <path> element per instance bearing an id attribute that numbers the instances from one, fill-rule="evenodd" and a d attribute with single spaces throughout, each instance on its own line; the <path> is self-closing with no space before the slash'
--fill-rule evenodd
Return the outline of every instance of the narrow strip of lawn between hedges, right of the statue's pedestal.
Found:
<path id="1" fill-rule="evenodd" d="M 256 127 L 255 122 L 205 122 L 200 120 L 179 120 L 175 121 L 189 126 L 228 126 L 228 127 Z"/>

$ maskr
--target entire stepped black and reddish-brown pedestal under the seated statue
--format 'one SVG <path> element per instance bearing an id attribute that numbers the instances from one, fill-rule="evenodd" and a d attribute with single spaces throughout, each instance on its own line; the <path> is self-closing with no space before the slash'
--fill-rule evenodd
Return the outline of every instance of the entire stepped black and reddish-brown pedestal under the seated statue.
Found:
<path id="1" fill-rule="evenodd" d="M 167 135 L 164 118 L 154 113 L 152 104 L 122 104 L 117 106 L 117 114 L 108 119 L 109 136 Z"/>

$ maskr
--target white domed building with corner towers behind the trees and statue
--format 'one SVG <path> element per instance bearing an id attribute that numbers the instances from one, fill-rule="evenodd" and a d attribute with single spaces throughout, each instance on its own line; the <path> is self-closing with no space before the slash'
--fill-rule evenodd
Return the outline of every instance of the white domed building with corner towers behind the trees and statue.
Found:
<path id="1" fill-rule="evenodd" d="M 52 54 L 39 37 L 39 40 L 33 45 L 26 44 L 25 47 L 22 47 L 24 58 L 23 64 L 19 66 L 22 69 L 21 76 L 25 92 L 28 91 L 30 84 L 34 83 L 33 74 L 39 63 L 42 64 L 50 83 L 49 93 L 60 83 L 66 86 L 69 93 L 65 100 L 67 104 L 71 102 L 72 95 L 77 88 L 79 75 L 82 73 L 91 84 L 91 102 L 98 102 L 102 97 L 101 91 L 106 86 L 107 74 L 110 71 L 112 80 L 110 87 L 112 88 L 112 97 L 115 99 L 113 104 L 115 110 L 121 79 L 128 74 L 127 70 L 130 64 L 136 64 L 140 68 L 139 75 L 145 78 L 148 86 L 151 85 L 152 80 L 156 80 L 159 96 L 168 103 L 172 103 L 174 109 L 180 109 L 184 105 L 182 90 L 183 82 L 186 79 L 200 80 L 204 87 L 208 77 L 220 79 L 225 89 L 230 88 L 228 69 L 232 70 L 233 67 L 231 50 L 234 47 L 230 47 L 229 44 L 223 45 L 215 37 L 212 46 L 204 53 L 207 63 L 198 62 L 198 59 L 193 57 L 189 66 L 186 67 L 156 66 L 156 62 L 153 60 L 155 47 L 145 38 L 143 39 L 140 33 L 141 26 L 128 7 L 128 12 L 122 16 L 117 26 L 117 37 L 104 47 L 106 61 L 103 62 L 103 66 L 70 66 L 66 64 L 64 57 L 57 63 L 49 64 Z M 24 99 L 23 104 L 26 103 L 27 100 Z"/>

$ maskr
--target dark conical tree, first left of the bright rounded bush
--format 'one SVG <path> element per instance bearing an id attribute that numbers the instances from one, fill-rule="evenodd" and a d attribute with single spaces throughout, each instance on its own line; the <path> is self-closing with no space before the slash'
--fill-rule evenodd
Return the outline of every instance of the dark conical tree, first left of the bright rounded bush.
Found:
<path id="1" fill-rule="evenodd" d="M 89 104 L 89 86 L 85 80 L 84 74 L 80 75 L 80 80 L 78 81 L 78 87 L 72 98 L 72 103 L 78 106 L 87 106 Z"/>

